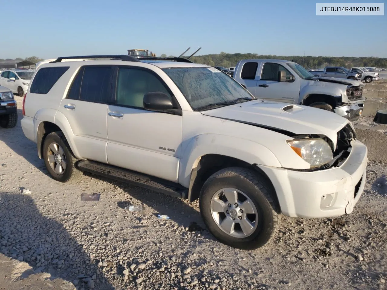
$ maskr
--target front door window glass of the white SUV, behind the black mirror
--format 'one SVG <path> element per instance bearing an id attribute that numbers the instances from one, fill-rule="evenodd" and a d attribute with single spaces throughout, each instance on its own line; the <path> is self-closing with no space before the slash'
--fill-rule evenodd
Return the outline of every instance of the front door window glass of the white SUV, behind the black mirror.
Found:
<path id="1" fill-rule="evenodd" d="M 135 68 L 119 68 L 116 85 L 116 104 L 143 108 L 144 95 L 163 92 L 172 97 L 162 82 L 151 72 Z"/>

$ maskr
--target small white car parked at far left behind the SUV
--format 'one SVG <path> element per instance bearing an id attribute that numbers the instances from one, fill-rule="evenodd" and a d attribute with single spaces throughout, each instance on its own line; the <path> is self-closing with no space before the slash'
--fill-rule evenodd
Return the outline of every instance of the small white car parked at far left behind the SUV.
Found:
<path id="1" fill-rule="evenodd" d="M 0 85 L 22 97 L 28 90 L 33 74 L 30 70 L 5 70 L 0 74 Z"/>

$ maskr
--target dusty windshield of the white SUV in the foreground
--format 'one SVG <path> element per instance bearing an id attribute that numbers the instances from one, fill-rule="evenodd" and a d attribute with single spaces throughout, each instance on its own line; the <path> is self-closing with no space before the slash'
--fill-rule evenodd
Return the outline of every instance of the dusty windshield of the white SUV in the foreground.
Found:
<path id="1" fill-rule="evenodd" d="M 216 68 L 163 68 L 195 111 L 255 99 L 233 78 Z M 207 108 L 208 107 L 208 108 Z"/>

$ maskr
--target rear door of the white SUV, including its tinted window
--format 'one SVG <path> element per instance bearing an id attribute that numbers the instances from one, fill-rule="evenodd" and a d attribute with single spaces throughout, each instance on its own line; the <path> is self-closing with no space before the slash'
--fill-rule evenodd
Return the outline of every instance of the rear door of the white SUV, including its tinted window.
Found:
<path id="1" fill-rule="evenodd" d="M 111 65 L 81 67 L 58 109 L 70 123 L 80 157 L 103 163 L 107 163 L 106 118 L 112 73 Z"/>

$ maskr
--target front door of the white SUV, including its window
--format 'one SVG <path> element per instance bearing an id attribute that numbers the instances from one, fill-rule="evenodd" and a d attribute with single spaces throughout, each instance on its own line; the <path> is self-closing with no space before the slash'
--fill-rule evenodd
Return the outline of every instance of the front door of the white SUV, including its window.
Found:
<path id="1" fill-rule="evenodd" d="M 144 109 L 147 92 L 163 92 L 167 85 L 154 72 L 135 67 L 117 70 L 115 104 L 108 106 L 109 164 L 169 181 L 178 181 L 182 116 Z"/>

